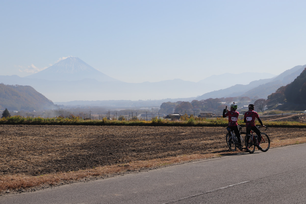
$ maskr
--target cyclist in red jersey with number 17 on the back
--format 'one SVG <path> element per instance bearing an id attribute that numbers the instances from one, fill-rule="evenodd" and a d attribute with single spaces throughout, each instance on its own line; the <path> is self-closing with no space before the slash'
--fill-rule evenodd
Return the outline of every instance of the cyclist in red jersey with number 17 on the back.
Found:
<path id="1" fill-rule="evenodd" d="M 254 104 L 250 104 L 248 108 L 249 108 L 248 112 L 244 113 L 244 122 L 246 124 L 246 131 L 247 131 L 247 134 L 250 134 L 251 130 L 253 130 L 256 133 L 256 135 L 258 136 L 258 144 L 256 146 L 260 150 L 261 149 L 260 147 L 261 133 L 260 133 L 260 130 L 255 125 L 255 119 L 256 118 L 258 119 L 261 126 L 263 127 L 266 127 L 266 126 L 263 125 L 263 122 L 259 118 L 258 113 L 254 111 L 254 108 L 255 108 Z"/>

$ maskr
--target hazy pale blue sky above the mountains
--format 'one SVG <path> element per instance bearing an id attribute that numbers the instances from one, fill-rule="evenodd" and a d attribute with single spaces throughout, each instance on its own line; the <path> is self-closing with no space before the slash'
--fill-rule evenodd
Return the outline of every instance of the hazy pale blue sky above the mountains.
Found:
<path id="1" fill-rule="evenodd" d="M 306 64 L 306 1 L 12 1 L 0 6 L 0 75 L 79 57 L 125 82 L 279 74 Z"/>

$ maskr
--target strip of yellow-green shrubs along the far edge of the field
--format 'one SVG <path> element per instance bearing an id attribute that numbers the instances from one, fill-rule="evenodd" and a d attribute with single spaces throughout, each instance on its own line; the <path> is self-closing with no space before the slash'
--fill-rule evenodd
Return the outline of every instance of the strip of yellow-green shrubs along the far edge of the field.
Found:
<path id="1" fill-rule="evenodd" d="M 305 123 L 301 122 L 265 122 L 264 124 L 269 125 L 269 127 L 279 127 L 279 128 L 306 128 Z M 102 120 L 85 120 L 80 117 L 55 117 L 55 118 L 42 118 L 42 117 L 21 117 L 12 116 L 7 118 L 1 118 L 0 124 L 4 125 L 125 125 L 125 126 L 210 126 L 210 127 L 226 127 L 228 125 L 228 120 L 226 118 L 195 118 L 192 116 L 186 117 L 182 116 L 180 120 L 166 120 L 162 118 L 152 118 L 151 121 L 145 121 L 142 119 L 135 120 L 108 120 L 106 117 Z M 243 119 L 238 119 L 239 125 L 244 125 Z M 259 125 L 259 122 L 256 121 Z"/>

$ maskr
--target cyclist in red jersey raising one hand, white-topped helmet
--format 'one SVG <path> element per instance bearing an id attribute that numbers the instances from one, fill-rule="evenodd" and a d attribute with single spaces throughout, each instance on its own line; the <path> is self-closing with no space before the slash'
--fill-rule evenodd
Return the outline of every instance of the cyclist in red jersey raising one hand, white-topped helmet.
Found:
<path id="1" fill-rule="evenodd" d="M 235 132 L 235 135 L 237 136 L 238 143 L 239 143 L 238 149 L 242 150 L 241 139 L 240 139 L 240 131 L 239 131 L 238 124 L 237 124 L 238 116 L 239 116 L 239 113 L 236 111 L 237 108 L 238 108 L 238 106 L 235 103 L 233 103 L 232 105 L 230 105 L 230 110 L 227 109 L 227 108 L 223 110 L 223 116 L 222 117 L 229 117 L 229 126 L 228 127 L 230 128 L 230 131 Z M 230 131 L 229 131 L 229 133 L 230 133 Z"/>

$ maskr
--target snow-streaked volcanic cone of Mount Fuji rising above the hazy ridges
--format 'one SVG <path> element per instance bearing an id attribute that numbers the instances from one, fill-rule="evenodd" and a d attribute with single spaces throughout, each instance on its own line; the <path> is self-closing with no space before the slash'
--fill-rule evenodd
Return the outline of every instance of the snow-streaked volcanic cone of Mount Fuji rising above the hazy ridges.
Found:
<path id="1" fill-rule="evenodd" d="M 95 79 L 97 81 L 119 81 L 91 67 L 78 57 L 68 57 L 35 74 L 24 78 L 52 81 L 77 81 Z"/>

